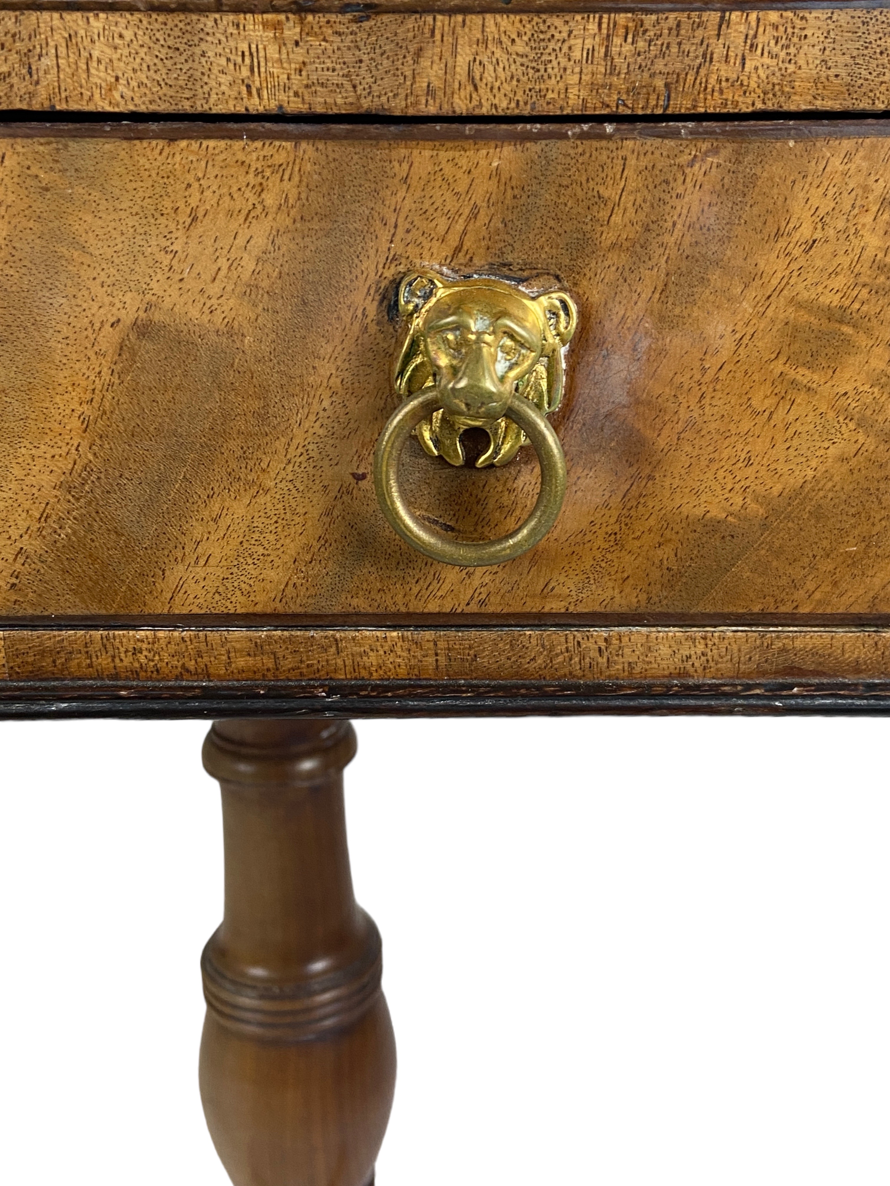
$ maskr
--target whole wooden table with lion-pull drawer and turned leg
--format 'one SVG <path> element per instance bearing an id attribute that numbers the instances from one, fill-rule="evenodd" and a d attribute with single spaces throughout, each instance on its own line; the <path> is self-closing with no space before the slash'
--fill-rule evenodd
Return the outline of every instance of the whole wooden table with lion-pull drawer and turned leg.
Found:
<path id="1" fill-rule="evenodd" d="M 884 710 L 889 49 L 878 5 L 0 4 L 0 713 L 216 720 L 236 1186 L 367 1186 L 387 1123 L 348 718 Z"/>

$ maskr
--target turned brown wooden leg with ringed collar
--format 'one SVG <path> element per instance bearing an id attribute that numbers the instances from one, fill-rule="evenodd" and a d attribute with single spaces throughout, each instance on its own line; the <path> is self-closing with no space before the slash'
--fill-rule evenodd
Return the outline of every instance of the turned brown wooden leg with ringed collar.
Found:
<path id="1" fill-rule="evenodd" d="M 204 950 L 201 1096 L 235 1186 L 365 1186 L 395 1085 L 380 935 L 352 895 L 342 721 L 218 721 L 225 912 Z"/>

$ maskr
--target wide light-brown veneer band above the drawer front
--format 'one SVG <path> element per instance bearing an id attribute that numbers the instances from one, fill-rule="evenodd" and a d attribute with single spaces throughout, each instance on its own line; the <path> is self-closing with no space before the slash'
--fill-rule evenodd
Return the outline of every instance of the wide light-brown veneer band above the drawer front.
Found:
<path id="1" fill-rule="evenodd" d="M 883 111 L 890 11 L 0 12 L 8 110 Z"/>

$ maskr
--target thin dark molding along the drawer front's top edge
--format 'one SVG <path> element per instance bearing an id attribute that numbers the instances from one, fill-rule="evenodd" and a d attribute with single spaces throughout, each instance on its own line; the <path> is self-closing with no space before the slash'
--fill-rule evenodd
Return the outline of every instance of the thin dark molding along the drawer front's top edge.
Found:
<path id="1" fill-rule="evenodd" d="M 726 119 L 649 121 L 618 117 L 579 121 L 547 120 L 383 120 L 344 116 L 324 120 L 160 120 L 155 116 L 83 116 L 65 113 L 59 122 L 34 122 L 33 111 L 0 111 L 0 138 L 58 140 L 398 140 L 398 141 L 529 141 L 529 140 L 838 140 L 890 135 L 890 115 L 807 113 L 777 119 L 776 113 L 743 113 Z"/>

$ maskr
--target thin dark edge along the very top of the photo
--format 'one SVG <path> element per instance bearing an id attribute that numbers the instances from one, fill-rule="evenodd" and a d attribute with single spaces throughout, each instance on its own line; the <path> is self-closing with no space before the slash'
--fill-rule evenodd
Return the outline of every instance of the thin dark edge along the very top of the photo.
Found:
<path id="1" fill-rule="evenodd" d="M 376 13 L 610 13 L 610 12 L 808 12 L 886 8 L 890 0 L 0 0 L 15 12 L 332 13 L 367 20 Z"/>

